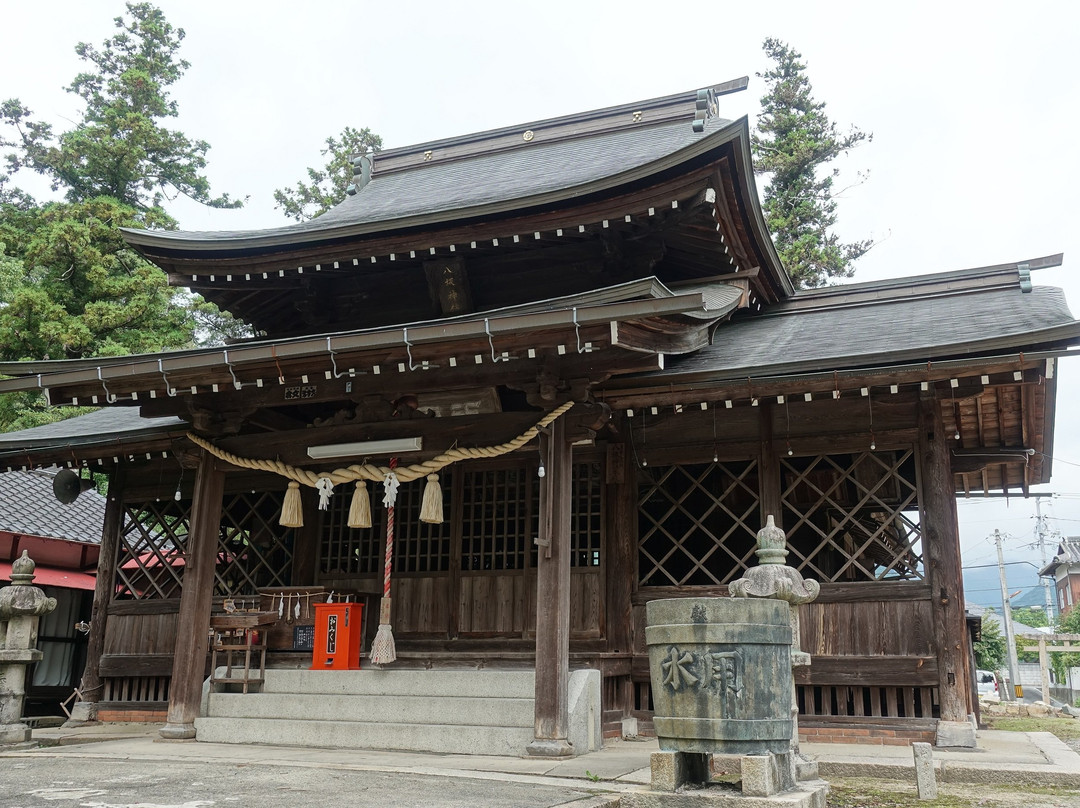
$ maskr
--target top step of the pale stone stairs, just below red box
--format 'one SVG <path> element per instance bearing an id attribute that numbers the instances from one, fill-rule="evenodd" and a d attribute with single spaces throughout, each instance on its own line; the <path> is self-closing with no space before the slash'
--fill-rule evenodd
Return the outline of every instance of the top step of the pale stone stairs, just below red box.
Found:
<path id="1" fill-rule="evenodd" d="M 268 670 L 265 693 L 532 699 L 532 671 Z"/>

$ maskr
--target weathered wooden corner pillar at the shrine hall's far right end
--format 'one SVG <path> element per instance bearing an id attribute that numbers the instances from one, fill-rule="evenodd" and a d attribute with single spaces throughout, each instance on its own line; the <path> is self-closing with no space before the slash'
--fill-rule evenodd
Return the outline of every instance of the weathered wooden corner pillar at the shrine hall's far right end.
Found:
<path id="1" fill-rule="evenodd" d="M 964 722 L 972 711 L 968 681 L 968 633 L 960 573 L 956 490 L 941 407 L 934 393 L 919 400 L 919 461 L 922 472 L 922 553 L 937 654 L 941 719 Z"/>

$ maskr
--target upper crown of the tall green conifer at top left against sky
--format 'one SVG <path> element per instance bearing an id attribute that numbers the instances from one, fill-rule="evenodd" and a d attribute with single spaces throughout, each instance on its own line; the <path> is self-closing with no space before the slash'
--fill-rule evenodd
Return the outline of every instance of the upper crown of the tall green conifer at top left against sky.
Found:
<path id="1" fill-rule="evenodd" d="M 212 207 L 240 206 L 228 194 L 211 196 L 203 175 L 208 144 L 162 123 L 177 115 L 167 89 L 189 67 L 177 56 L 184 29 L 150 3 L 127 3 L 127 16 L 117 17 L 116 26 L 118 32 L 99 50 L 85 42 L 76 48 L 91 69 L 67 86 L 85 103 L 72 129 L 56 134 L 17 98 L 0 104 L 0 123 L 15 133 L 14 139 L 0 140 L 15 149 L 9 170 L 44 175 L 71 202 L 111 197 L 152 211 L 149 218 L 159 226 L 172 224 L 161 205 L 176 194 Z"/>

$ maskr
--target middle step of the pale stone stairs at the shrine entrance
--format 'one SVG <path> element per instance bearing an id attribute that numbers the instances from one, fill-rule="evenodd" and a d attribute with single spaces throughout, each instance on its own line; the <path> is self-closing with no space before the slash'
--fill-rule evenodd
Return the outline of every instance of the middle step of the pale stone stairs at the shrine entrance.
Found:
<path id="1" fill-rule="evenodd" d="M 272 717 L 369 724 L 472 724 L 531 728 L 535 723 L 532 704 L 531 698 L 214 692 L 210 695 L 207 713 L 215 718 Z"/>

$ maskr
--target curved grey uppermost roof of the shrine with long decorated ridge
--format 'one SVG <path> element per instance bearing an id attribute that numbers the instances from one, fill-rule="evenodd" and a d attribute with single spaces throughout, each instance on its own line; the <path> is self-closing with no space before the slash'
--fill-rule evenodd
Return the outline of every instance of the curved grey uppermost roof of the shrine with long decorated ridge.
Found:
<path id="1" fill-rule="evenodd" d="M 742 79 L 706 92 L 745 84 Z M 259 250 L 577 201 L 747 139 L 745 118 L 716 118 L 714 109 L 702 115 L 697 131 L 700 92 L 386 150 L 375 157 L 370 181 L 308 221 L 262 230 L 127 229 L 124 238 L 154 252 Z"/>

